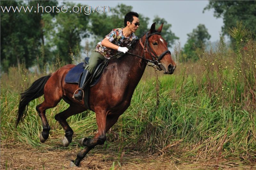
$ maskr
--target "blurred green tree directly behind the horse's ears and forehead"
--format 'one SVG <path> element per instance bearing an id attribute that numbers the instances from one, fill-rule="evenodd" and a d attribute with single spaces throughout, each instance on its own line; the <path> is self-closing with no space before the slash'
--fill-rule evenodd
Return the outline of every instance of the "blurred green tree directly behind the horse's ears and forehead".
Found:
<path id="1" fill-rule="evenodd" d="M 175 34 L 171 31 L 172 24 L 168 24 L 164 18 L 155 16 L 153 22 L 156 22 L 156 28 L 160 27 L 164 23 L 161 35 L 167 42 L 168 46 L 171 48 L 175 40 L 178 40 L 179 37 L 176 37 Z"/>

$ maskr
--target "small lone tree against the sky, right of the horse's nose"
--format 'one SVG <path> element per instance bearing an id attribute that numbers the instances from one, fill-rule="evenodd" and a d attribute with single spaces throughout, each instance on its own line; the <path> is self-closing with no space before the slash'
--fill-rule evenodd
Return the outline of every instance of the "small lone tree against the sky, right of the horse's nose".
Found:
<path id="1" fill-rule="evenodd" d="M 207 28 L 204 24 L 199 24 L 195 29 L 193 29 L 192 33 L 187 34 L 188 41 L 184 45 L 184 51 L 182 54 L 182 60 L 186 61 L 188 59 L 197 60 L 196 49 L 202 48 L 204 44 L 211 38 L 209 35 Z"/>

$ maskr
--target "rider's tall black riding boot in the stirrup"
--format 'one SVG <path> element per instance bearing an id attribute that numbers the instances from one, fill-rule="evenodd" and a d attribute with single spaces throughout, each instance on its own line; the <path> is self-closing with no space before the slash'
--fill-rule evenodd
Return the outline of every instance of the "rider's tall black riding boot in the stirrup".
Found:
<path id="1" fill-rule="evenodd" d="M 76 99 L 77 101 L 81 102 L 83 99 L 83 95 L 84 95 L 84 88 L 87 85 L 87 83 L 89 82 L 91 78 L 91 73 L 84 69 L 84 73 L 81 77 L 80 83 L 79 83 L 79 89 L 78 89 L 78 93 L 74 94 L 72 98 Z"/>

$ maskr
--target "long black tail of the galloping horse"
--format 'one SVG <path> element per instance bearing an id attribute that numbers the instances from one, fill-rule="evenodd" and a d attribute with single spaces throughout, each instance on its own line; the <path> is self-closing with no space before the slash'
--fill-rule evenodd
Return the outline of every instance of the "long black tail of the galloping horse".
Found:
<path id="1" fill-rule="evenodd" d="M 32 83 L 32 85 L 23 93 L 20 94 L 20 104 L 19 111 L 16 117 L 15 127 L 17 128 L 20 121 L 23 121 L 27 111 L 28 111 L 28 103 L 44 94 L 44 85 L 49 80 L 52 75 L 46 75 L 37 79 Z"/>

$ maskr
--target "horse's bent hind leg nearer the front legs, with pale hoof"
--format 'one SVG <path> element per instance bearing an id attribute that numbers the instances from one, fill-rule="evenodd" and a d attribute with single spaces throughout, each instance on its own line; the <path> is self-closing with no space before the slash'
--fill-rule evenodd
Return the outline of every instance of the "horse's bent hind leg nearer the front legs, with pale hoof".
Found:
<path id="1" fill-rule="evenodd" d="M 55 117 L 54 117 L 55 120 L 57 120 L 60 123 L 60 125 L 62 126 L 62 128 L 65 130 L 65 136 L 62 139 L 62 143 L 65 147 L 68 147 L 68 145 L 72 142 L 72 137 L 74 134 L 73 130 L 68 125 L 67 118 L 69 116 L 72 116 L 72 115 L 75 115 L 77 113 L 81 113 L 84 111 L 85 111 L 85 108 L 71 104 L 68 107 L 68 109 L 55 115 Z"/>

